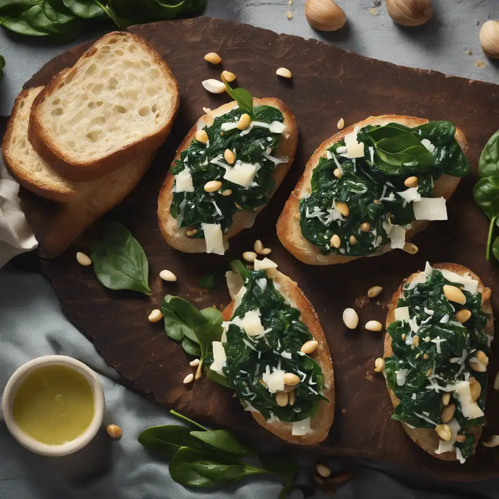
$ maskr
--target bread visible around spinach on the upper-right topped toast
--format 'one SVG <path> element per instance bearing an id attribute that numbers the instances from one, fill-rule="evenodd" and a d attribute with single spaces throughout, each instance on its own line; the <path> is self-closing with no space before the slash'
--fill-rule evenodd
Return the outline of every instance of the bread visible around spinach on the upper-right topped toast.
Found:
<path id="1" fill-rule="evenodd" d="M 371 116 L 363 121 L 359 121 L 358 123 L 354 123 L 353 125 L 344 128 L 329 139 L 326 139 L 308 160 L 303 175 L 296 184 L 294 191 L 286 201 L 284 209 L 282 210 L 279 220 L 277 221 L 277 236 L 280 242 L 286 250 L 298 258 L 298 260 L 310 265 L 331 265 L 333 263 L 346 263 L 347 261 L 361 258 L 361 256 L 343 256 L 336 253 L 323 255 L 316 246 L 309 243 L 301 234 L 299 200 L 302 199 L 304 195 L 311 193 L 310 180 L 312 178 L 312 172 L 317 166 L 319 158 L 328 147 L 331 147 L 345 135 L 353 132 L 356 126 L 363 127 L 366 125 L 386 125 L 388 123 L 400 123 L 401 125 L 413 128 L 423 123 L 428 123 L 428 120 L 415 118 L 413 116 L 400 116 L 395 114 Z M 468 142 L 466 141 L 464 133 L 459 128 L 456 128 L 455 137 L 463 152 L 466 153 L 466 151 L 468 151 Z M 433 197 L 444 197 L 448 200 L 458 187 L 460 180 L 461 179 L 458 177 L 451 177 L 450 175 L 445 174 L 442 175 L 435 182 Z M 427 220 L 414 221 L 412 223 L 412 229 L 406 232 L 406 241 L 409 241 L 418 232 L 425 230 L 428 225 L 429 222 Z M 380 255 L 390 250 L 391 248 L 389 245 L 385 245 L 369 256 Z"/>

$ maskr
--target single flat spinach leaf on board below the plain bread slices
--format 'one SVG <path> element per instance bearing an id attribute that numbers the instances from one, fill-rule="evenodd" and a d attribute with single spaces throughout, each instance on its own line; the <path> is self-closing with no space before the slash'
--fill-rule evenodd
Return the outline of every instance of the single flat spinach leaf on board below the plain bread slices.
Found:
<path id="1" fill-rule="evenodd" d="M 90 252 L 95 275 L 109 289 L 130 289 L 151 294 L 149 265 L 144 250 L 130 232 L 109 222 L 102 240 Z"/>

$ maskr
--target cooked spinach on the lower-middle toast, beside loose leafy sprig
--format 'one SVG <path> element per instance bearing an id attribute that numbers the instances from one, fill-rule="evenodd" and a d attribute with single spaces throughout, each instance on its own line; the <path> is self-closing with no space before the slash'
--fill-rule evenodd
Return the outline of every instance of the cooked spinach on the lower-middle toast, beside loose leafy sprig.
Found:
<path id="1" fill-rule="evenodd" d="M 249 336 L 239 325 L 229 323 L 227 341 L 223 343 L 227 355 L 223 372 L 228 384 L 265 419 L 274 416 L 292 422 L 313 417 L 318 403 L 328 400 L 321 394 L 322 369 L 315 360 L 300 352 L 303 343 L 313 337 L 299 319 L 300 311 L 285 300 L 264 270 L 248 270 L 244 265 L 240 268 L 246 292 L 231 320 L 259 309 L 261 324 L 268 332 Z M 285 356 L 281 355 L 283 353 Z M 279 407 L 275 394 L 261 383 L 263 373 L 271 373 L 273 368 L 300 377 L 301 381 L 294 389 L 296 401 L 293 406 Z"/>

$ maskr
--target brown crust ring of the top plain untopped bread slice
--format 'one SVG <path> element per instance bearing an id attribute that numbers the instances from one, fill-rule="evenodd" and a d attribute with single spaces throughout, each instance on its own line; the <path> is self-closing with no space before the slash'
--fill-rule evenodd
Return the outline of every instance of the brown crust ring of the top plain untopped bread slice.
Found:
<path id="1" fill-rule="evenodd" d="M 80 59 L 78 59 L 78 62 L 82 59 L 91 58 L 97 50 L 96 45 L 105 42 L 105 40 L 111 36 L 127 36 L 133 38 L 135 43 L 142 45 L 145 50 L 151 53 L 152 58 L 159 67 L 162 68 L 163 77 L 169 81 L 171 88 L 173 89 L 171 116 L 160 130 L 147 137 L 137 139 L 131 144 L 123 146 L 98 160 L 76 161 L 52 143 L 49 134 L 42 127 L 43 116 L 40 111 L 41 104 L 45 99 L 51 97 L 53 92 L 57 90 L 58 85 L 63 82 L 66 75 L 74 66 L 73 68 L 66 68 L 57 73 L 33 102 L 28 125 L 28 140 L 31 142 L 33 149 L 45 161 L 50 163 L 50 165 L 63 177 L 77 182 L 101 178 L 107 173 L 113 172 L 121 168 L 124 164 L 129 163 L 130 158 L 145 155 L 158 149 L 170 134 L 179 107 L 179 87 L 175 76 L 156 49 L 140 36 L 123 31 L 112 31 L 107 33 L 91 45 L 90 48 L 83 53 Z M 76 64 L 78 64 L 78 62 Z"/>

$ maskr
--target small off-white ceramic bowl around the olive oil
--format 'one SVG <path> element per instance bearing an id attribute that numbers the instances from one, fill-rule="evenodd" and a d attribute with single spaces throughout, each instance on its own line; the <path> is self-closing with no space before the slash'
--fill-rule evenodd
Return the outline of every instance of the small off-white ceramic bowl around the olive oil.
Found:
<path id="1" fill-rule="evenodd" d="M 88 428 L 75 440 L 61 445 L 48 445 L 24 433 L 12 416 L 15 393 L 26 376 L 35 369 L 47 365 L 63 365 L 83 375 L 92 387 L 95 413 Z M 104 391 L 97 375 L 83 362 L 65 355 L 46 355 L 26 362 L 10 377 L 3 391 L 2 412 L 5 424 L 12 436 L 26 449 L 42 456 L 66 456 L 85 447 L 99 430 L 104 417 Z"/>

